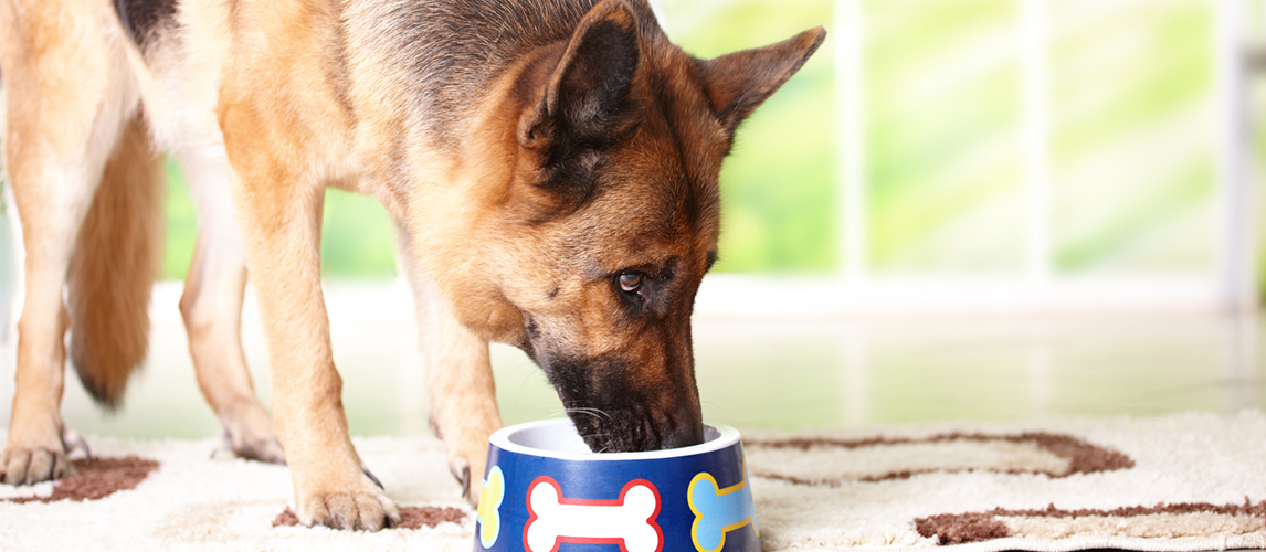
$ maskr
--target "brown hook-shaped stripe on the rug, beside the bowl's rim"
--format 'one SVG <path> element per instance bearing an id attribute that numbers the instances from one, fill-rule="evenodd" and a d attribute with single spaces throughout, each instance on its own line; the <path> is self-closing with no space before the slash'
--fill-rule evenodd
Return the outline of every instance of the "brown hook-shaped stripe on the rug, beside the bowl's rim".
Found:
<path id="1" fill-rule="evenodd" d="M 1038 448 L 1047 451 L 1060 458 L 1065 458 L 1069 462 L 1067 472 L 1050 472 L 1041 468 L 1033 470 L 1005 470 L 1004 474 L 1046 474 L 1051 477 L 1067 477 L 1074 474 L 1094 474 L 1100 471 L 1114 471 L 1114 470 L 1128 470 L 1134 467 L 1134 461 L 1128 456 L 1109 449 L 1099 447 L 1087 441 L 1070 437 L 1060 436 L 1052 433 L 1029 432 L 1014 436 L 986 436 L 979 433 L 947 433 L 927 438 L 885 438 L 876 437 L 868 439 L 829 439 L 829 438 L 793 438 L 793 439 L 753 439 L 744 441 L 743 446 L 748 449 L 755 448 L 793 448 L 804 452 L 810 449 L 820 448 L 846 448 L 857 449 L 865 447 L 886 447 L 895 444 L 939 444 L 939 443 L 952 443 L 952 442 L 975 442 L 975 443 L 1024 443 L 1032 444 Z M 844 482 L 861 481 L 861 482 L 876 482 L 876 481 L 889 481 L 889 480 L 901 480 L 909 479 L 920 474 L 953 474 L 962 471 L 976 471 L 975 468 L 967 470 L 899 470 L 887 472 L 879 476 L 865 476 L 857 479 L 805 479 L 796 477 L 793 475 L 777 474 L 770 470 L 752 470 L 751 475 L 756 477 L 786 481 L 794 485 L 810 485 L 810 486 L 839 486 Z"/>

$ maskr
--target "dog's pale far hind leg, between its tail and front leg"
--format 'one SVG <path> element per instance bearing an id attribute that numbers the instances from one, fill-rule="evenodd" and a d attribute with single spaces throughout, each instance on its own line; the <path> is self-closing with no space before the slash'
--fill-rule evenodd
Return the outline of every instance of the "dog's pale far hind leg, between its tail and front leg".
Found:
<path id="1" fill-rule="evenodd" d="M 268 414 L 256 398 L 242 352 L 246 257 L 222 151 L 179 156 L 197 204 L 197 244 L 185 279 L 180 311 L 203 396 L 215 410 L 233 453 L 285 463 Z"/>

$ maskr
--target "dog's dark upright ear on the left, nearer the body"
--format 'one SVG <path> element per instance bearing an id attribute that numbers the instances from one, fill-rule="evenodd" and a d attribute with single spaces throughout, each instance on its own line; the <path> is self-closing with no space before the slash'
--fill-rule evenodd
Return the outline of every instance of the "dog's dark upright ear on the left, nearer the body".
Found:
<path id="1" fill-rule="evenodd" d="M 594 6 L 523 111 L 519 143 L 543 148 L 587 142 L 629 125 L 641 60 L 638 20 L 628 4 L 606 0 Z"/>

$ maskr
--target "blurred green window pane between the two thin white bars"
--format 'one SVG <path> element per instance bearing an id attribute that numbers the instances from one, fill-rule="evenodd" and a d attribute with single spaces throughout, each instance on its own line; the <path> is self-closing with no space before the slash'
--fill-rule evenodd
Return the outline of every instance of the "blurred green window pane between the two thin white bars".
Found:
<path id="1" fill-rule="evenodd" d="M 863 4 L 871 271 L 1019 270 L 1024 211 L 1015 4 Z"/>

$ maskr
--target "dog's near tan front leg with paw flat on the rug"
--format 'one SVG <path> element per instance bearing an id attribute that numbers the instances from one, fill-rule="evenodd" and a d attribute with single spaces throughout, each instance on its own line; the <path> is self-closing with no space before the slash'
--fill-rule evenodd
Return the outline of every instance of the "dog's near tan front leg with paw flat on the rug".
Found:
<path id="1" fill-rule="evenodd" d="M 229 151 L 247 267 L 268 341 L 273 425 L 299 519 L 339 529 L 389 527 L 400 513 L 361 470 L 330 353 L 320 289 L 324 189 L 301 184 L 267 153 L 251 153 L 267 148 L 238 149 L 237 157 Z"/>

